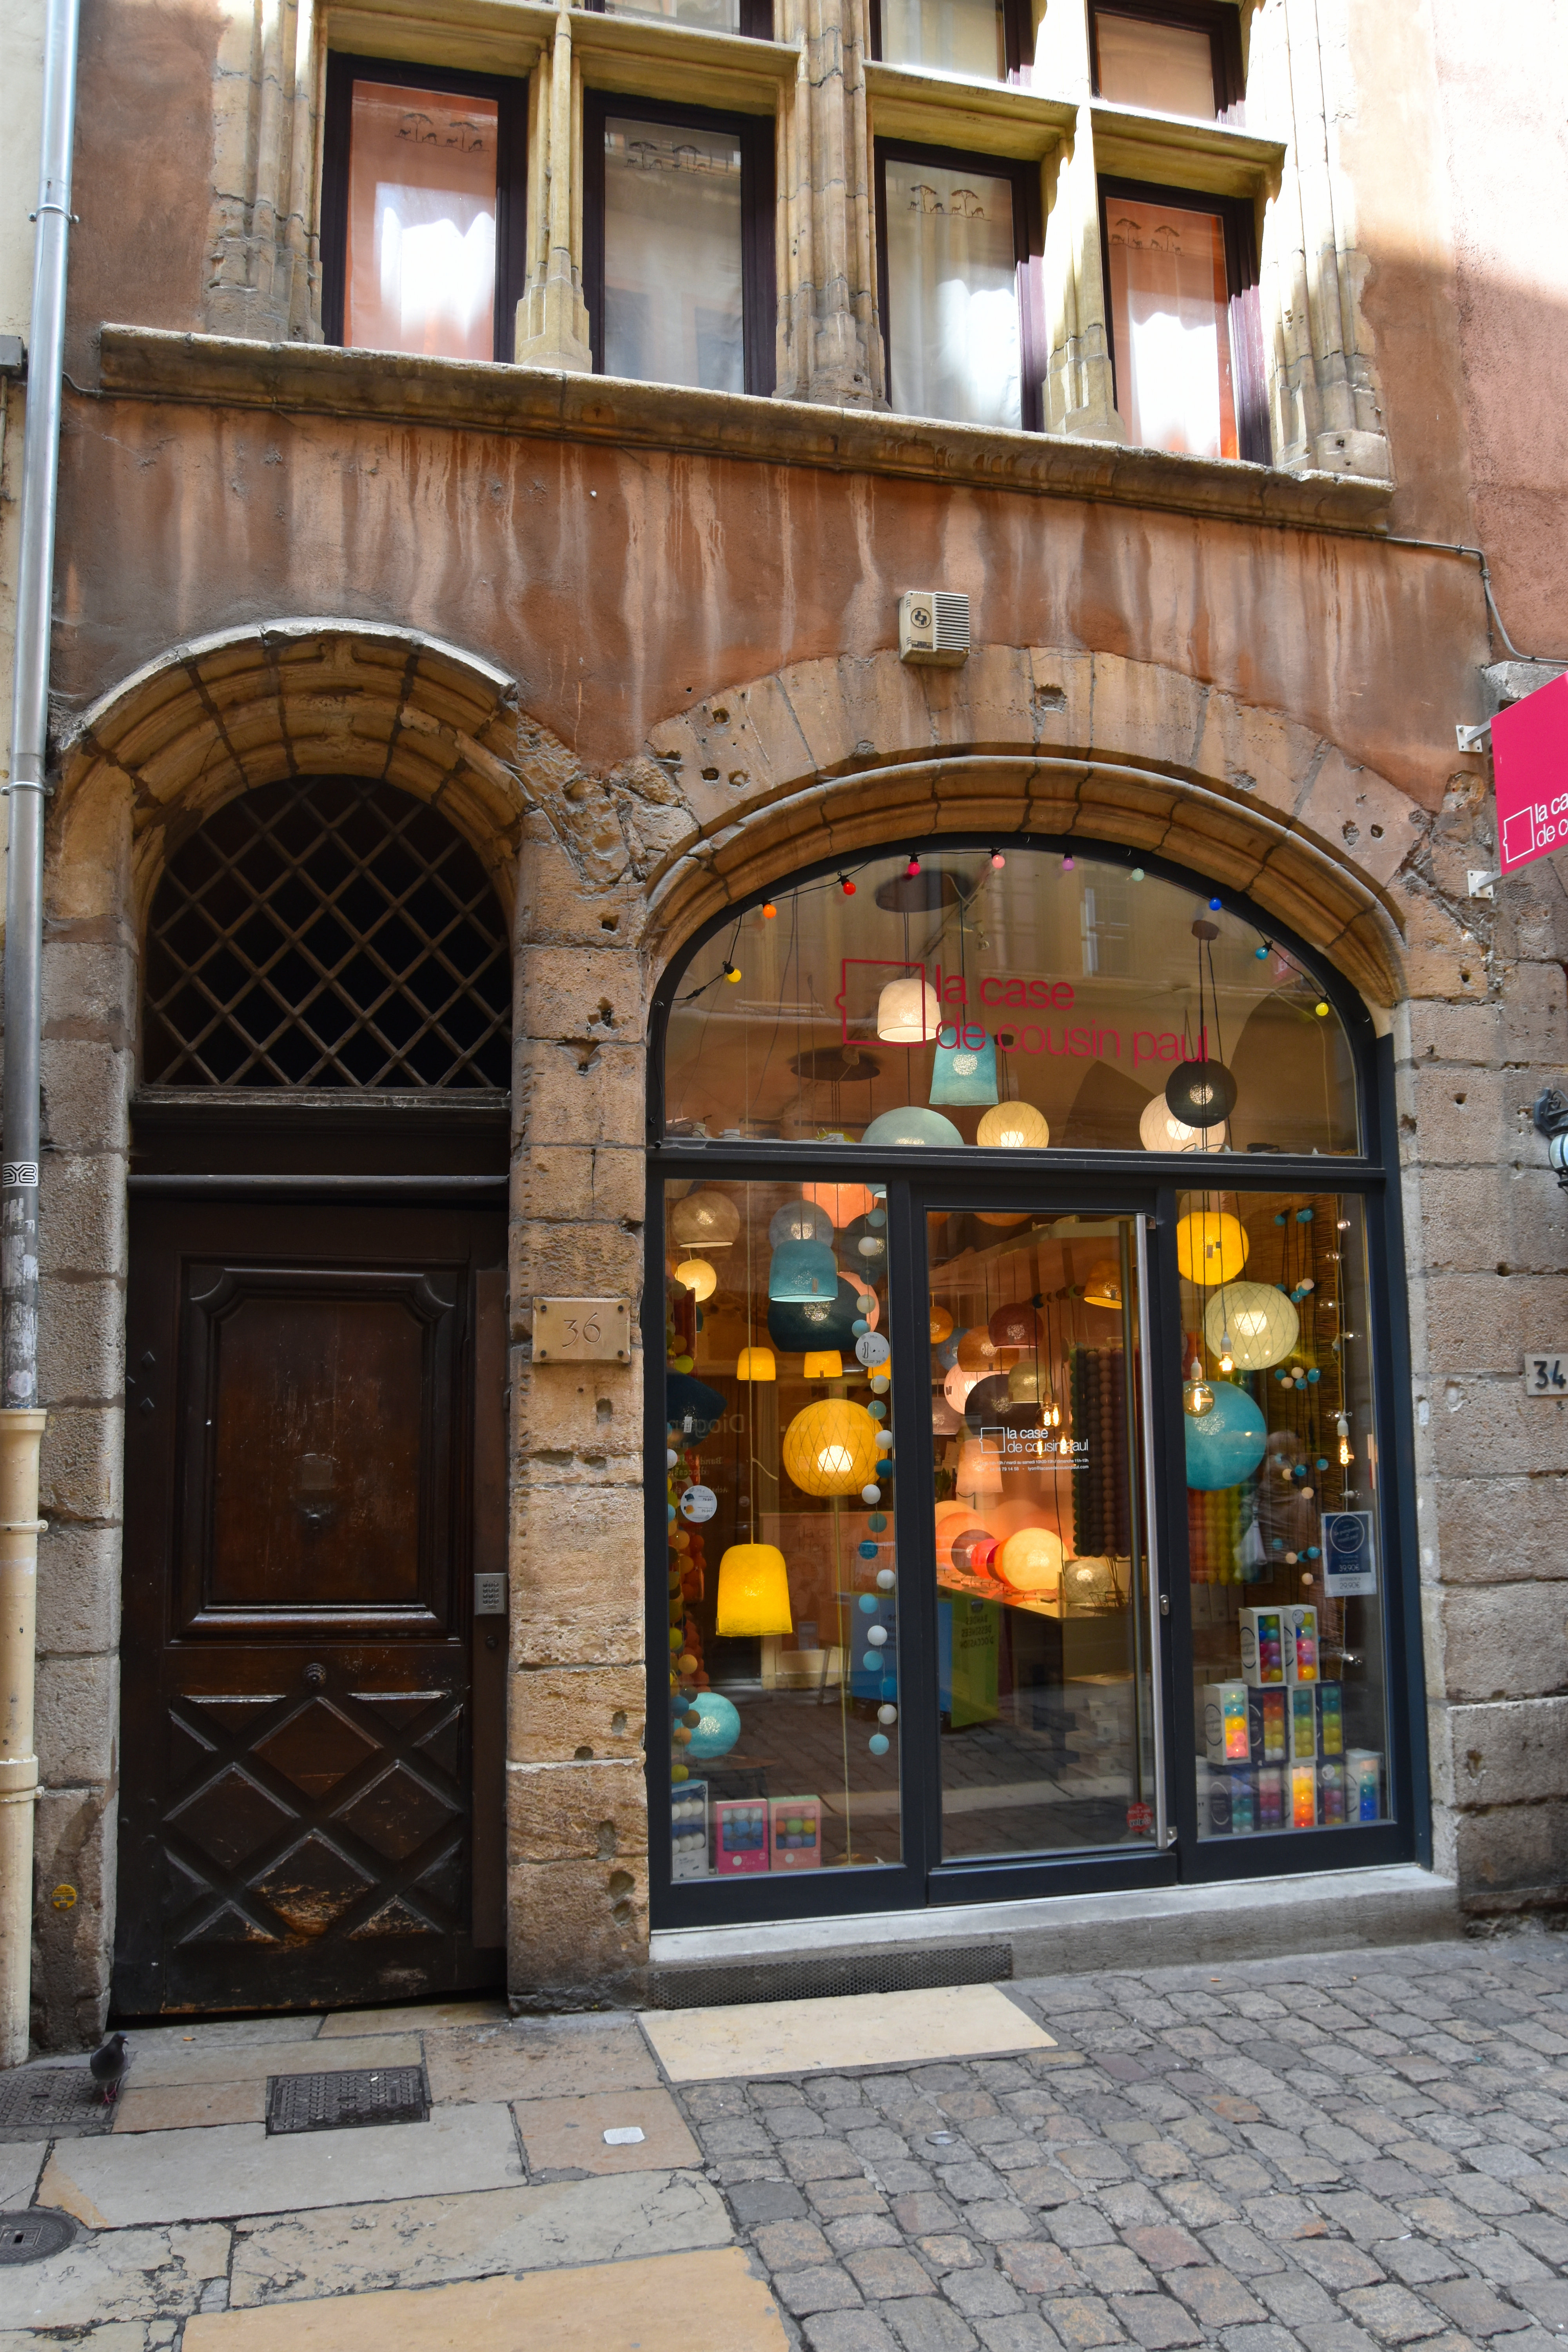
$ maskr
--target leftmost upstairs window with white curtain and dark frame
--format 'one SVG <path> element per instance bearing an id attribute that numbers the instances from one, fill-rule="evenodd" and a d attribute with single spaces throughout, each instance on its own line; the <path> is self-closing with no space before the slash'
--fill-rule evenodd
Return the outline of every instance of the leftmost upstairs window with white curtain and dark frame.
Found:
<path id="1" fill-rule="evenodd" d="M 527 92 L 371 56 L 327 61 L 322 332 L 355 350 L 510 360 L 524 270 Z"/>

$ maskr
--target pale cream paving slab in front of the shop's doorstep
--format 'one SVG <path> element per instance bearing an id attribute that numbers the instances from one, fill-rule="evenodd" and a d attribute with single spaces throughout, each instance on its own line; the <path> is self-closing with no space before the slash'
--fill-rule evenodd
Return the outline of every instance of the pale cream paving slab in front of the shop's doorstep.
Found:
<path id="1" fill-rule="evenodd" d="M 797 2074 L 858 2065 L 1053 2049 L 1051 2034 L 994 1985 L 851 1992 L 823 2002 L 644 2009 L 642 2030 L 670 2082 Z"/>

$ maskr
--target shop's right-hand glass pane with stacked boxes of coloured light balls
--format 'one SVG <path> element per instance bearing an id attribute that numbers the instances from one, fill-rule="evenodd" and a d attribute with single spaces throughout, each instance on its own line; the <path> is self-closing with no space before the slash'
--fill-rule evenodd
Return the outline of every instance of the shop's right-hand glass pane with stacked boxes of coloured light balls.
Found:
<path id="1" fill-rule="evenodd" d="M 1178 1207 L 1199 1837 L 1387 1820 L 1363 1204 Z"/>

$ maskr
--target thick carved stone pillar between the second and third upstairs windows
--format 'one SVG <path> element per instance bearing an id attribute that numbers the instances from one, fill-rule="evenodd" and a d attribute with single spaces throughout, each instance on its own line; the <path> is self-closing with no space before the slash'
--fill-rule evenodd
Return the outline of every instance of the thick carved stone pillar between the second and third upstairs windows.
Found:
<path id="1" fill-rule="evenodd" d="M 778 393 L 886 407 L 863 0 L 783 0 L 799 49 L 780 141 Z"/>

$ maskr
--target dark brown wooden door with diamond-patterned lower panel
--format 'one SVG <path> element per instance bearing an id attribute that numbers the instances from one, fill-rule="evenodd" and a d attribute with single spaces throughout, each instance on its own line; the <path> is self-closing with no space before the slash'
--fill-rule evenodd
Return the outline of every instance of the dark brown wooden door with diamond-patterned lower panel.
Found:
<path id="1" fill-rule="evenodd" d="M 134 1207 L 122 2016 L 503 1976 L 503 1249 L 440 1204 Z"/>

